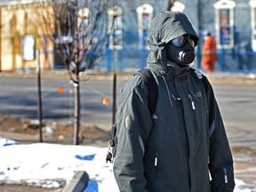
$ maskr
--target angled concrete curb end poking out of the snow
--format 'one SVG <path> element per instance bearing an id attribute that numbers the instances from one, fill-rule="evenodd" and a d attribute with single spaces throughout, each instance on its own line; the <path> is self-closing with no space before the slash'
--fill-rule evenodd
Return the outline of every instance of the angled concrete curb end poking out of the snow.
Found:
<path id="1" fill-rule="evenodd" d="M 62 192 L 82 192 L 87 186 L 89 175 L 87 172 L 78 171 L 75 173 L 72 180 L 69 181 L 68 185 L 62 190 Z"/>

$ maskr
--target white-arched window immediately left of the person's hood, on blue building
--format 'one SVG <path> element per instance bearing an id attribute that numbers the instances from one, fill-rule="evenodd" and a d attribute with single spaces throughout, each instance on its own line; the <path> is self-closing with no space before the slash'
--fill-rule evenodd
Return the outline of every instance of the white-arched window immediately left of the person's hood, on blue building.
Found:
<path id="1" fill-rule="evenodd" d="M 153 16 L 153 7 L 150 4 L 142 4 L 137 8 L 140 49 L 149 49 L 147 38 L 148 28 Z"/>

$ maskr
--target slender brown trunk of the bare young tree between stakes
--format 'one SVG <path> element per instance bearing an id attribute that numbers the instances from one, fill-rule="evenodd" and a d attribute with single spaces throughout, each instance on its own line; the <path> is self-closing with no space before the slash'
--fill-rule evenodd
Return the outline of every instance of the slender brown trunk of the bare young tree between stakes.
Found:
<path id="1" fill-rule="evenodd" d="M 76 76 L 76 82 L 74 82 L 73 85 L 74 85 L 74 97 L 75 97 L 73 144 L 74 145 L 79 145 L 79 132 L 80 132 L 80 84 L 79 84 L 79 75 Z"/>

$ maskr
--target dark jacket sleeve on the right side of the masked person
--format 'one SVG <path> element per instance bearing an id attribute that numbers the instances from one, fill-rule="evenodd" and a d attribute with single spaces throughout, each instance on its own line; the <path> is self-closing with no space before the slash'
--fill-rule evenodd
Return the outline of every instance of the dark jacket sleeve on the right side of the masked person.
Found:
<path id="1" fill-rule="evenodd" d="M 207 95 L 210 132 L 209 170 L 212 176 L 211 191 L 230 192 L 235 188 L 233 158 L 220 109 L 209 82 Z"/>

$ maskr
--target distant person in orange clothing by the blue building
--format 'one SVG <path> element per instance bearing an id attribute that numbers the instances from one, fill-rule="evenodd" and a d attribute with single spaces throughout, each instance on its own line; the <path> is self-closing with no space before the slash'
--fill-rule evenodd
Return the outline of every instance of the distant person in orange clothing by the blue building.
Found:
<path id="1" fill-rule="evenodd" d="M 212 73 L 215 70 L 217 60 L 216 42 L 210 32 L 204 31 L 204 46 L 202 67 L 206 73 Z"/>

